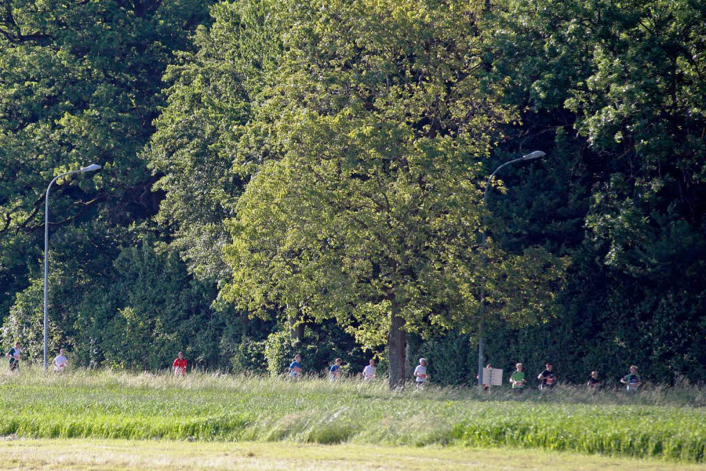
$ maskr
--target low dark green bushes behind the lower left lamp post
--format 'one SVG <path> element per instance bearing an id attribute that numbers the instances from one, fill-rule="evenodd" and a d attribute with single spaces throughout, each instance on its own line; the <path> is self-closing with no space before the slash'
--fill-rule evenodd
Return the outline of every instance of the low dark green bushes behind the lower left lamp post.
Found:
<path id="1" fill-rule="evenodd" d="M 50 279 L 51 352 L 68 347 L 85 366 L 156 370 L 183 350 L 193 366 L 228 366 L 228 342 L 217 339 L 240 319 L 209 309 L 213 286 L 194 280 L 173 252 L 146 242 L 122 249 L 102 273 L 100 289 L 90 292 L 76 290 L 79 273 L 59 268 Z M 18 296 L 3 328 L 4 341 L 25 343 L 30 360 L 42 357 L 42 294 L 36 280 Z"/>

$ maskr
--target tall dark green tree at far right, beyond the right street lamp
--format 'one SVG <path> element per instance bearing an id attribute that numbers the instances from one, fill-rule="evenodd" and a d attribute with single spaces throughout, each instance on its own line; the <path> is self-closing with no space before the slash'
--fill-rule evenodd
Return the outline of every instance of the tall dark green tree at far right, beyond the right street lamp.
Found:
<path id="1" fill-rule="evenodd" d="M 569 185 L 585 201 L 581 229 L 562 248 L 575 261 L 565 323 L 592 340 L 578 356 L 612 371 L 624 369 L 616 358 L 631 358 L 667 381 L 698 377 L 704 5 L 501 0 L 491 13 L 482 28 L 488 79 L 510 84 L 506 97 L 526 110 L 508 133 L 556 138 L 566 156 L 557 168 L 570 162 Z M 520 185 L 518 195 L 533 201 L 534 188 Z"/>

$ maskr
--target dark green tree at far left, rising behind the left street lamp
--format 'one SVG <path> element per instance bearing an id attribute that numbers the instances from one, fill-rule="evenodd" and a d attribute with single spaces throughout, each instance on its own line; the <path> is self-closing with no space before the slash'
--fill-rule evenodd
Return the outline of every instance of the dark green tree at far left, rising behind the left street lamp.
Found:
<path id="1" fill-rule="evenodd" d="M 76 305 L 102 288 L 121 244 L 135 244 L 160 193 L 140 152 L 162 104 L 174 51 L 208 20 L 208 1 L 4 1 L 0 8 L 0 316 L 41 306 L 44 192 L 59 172 L 100 163 L 52 190 L 52 287 L 57 337 Z M 128 229 L 133 225 L 133 229 Z M 152 232 L 146 228 L 145 232 Z M 108 237 L 109 236 L 109 237 Z M 80 237 L 80 241 L 74 239 Z M 89 242 L 100 241 L 100 245 Z M 73 246 L 82 251 L 72 252 Z M 83 245 L 83 246 L 82 246 Z M 72 260 L 69 258 L 73 257 Z M 65 260 L 64 260 L 65 258 Z M 79 260 L 80 258 L 80 260 Z M 62 267 L 53 265 L 61 270 Z M 7 282 L 6 282 L 7 281 Z M 26 292 L 24 292 L 26 290 Z M 25 296 L 26 294 L 26 296 Z M 17 295 L 17 296 L 16 296 Z M 30 309 L 29 302 L 35 302 Z M 12 307 L 13 302 L 16 306 Z M 61 323 L 59 323 L 61 319 Z"/>

